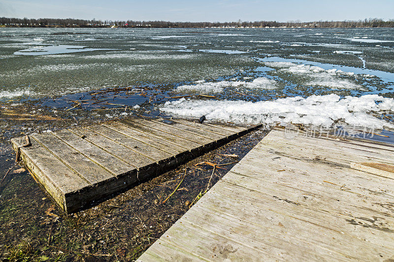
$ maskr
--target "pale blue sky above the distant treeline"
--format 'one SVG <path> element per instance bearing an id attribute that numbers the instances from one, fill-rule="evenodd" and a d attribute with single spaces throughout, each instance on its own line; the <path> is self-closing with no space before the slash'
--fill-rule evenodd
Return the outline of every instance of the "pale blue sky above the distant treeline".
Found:
<path id="1" fill-rule="evenodd" d="M 172 22 L 394 19 L 394 0 L 0 0 L 0 17 Z"/>

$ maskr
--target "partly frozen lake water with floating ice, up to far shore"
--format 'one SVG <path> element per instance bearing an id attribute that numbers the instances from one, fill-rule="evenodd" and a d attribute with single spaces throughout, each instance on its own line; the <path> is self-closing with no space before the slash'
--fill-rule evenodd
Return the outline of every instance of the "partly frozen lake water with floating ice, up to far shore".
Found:
<path id="1" fill-rule="evenodd" d="M 393 87 L 394 29 L 0 29 L 0 101 L 73 116 L 393 129 Z"/>

